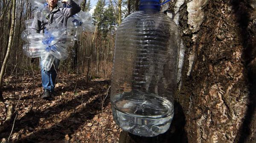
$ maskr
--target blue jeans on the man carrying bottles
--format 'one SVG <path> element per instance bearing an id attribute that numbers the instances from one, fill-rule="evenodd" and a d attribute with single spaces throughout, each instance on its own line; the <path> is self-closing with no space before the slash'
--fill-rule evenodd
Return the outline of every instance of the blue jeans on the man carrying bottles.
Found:
<path id="1" fill-rule="evenodd" d="M 41 66 L 42 85 L 44 89 L 54 90 L 55 79 L 57 77 L 57 70 L 58 70 L 59 64 L 60 64 L 60 60 L 55 58 L 52 64 L 52 67 L 49 71 L 43 70 Z"/>

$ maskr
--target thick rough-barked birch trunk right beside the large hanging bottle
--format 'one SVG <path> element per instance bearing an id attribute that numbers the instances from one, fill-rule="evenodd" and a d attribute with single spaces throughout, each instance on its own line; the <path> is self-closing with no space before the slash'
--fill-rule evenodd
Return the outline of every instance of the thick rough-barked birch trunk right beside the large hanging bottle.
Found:
<path id="1" fill-rule="evenodd" d="M 175 117 L 163 135 L 122 132 L 119 142 L 256 143 L 256 1 L 174 0 L 166 10 L 185 47 Z"/>

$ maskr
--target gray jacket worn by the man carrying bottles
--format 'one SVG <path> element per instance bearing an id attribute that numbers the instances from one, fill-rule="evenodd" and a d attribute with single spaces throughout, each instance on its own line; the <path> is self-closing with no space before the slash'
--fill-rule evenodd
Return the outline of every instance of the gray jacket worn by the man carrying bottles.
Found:
<path id="1" fill-rule="evenodd" d="M 63 26 L 67 26 L 67 19 L 81 10 L 79 5 L 77 5 L 73 0 L 67 0 L 67 5 L 69 5 L 70 8 L 58 7 L 56 5 L 56 7 L 52 9 L 47 16 L 47 21 L 34 19 L 32 22 L 32 31 L 44 33 L 45 28 L 55 23 L 62 23 Z"/>

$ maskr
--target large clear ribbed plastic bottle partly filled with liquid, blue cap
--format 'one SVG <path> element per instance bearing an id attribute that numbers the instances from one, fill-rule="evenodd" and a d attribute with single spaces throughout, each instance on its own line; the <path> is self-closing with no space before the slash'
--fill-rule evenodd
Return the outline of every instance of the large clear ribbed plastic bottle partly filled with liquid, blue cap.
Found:
<path id="1" fill-rule="evenodd" d="M 140 2 L 116 32 L 111 104 L 118 126 L 152 137 L 172 122 L 181 40 L 175 22 L 159 12 L 159 0 Z"/>

